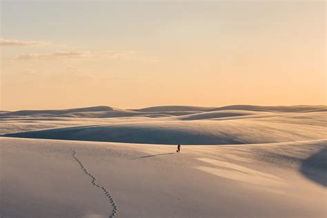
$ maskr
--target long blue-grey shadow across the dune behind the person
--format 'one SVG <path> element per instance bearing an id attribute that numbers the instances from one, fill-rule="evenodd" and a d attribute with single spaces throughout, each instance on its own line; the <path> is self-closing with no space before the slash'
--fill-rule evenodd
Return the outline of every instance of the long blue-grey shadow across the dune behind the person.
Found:
<path id="1" fill-rule="evenodd" d="M 46 130 L 33 130 L 0 135 L 0 137 L 19 137 L 32 139 L 57 139 L 77 141 L 107 141 L 119 143 L 147 143 L 177 145 L 219 145 L 244 143 L 231 132 L 217 132 L 213 134 L 212 128 L 197 131 L 197 123 L 185 124 L 181 128 L 161 125 L 145 126 L 144 124 L 110 124 L 73 126 L 65 128 L 51 128 Z"/>

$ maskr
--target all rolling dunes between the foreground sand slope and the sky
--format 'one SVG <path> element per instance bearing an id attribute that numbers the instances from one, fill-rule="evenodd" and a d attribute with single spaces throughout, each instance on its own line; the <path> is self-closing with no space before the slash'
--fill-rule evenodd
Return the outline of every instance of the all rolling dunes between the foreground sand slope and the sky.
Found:
<path id="1" fill-rule="evenodd" d="M 8 129 L 1 130 L 6 137 L 215 145 L 324 139 L 325 110 L 326 106 L 157 106 L 138 110 L 98 106 L 5 112 L 0 119 L 8 122 Z M 34 126 L 26 124 L 27 120 Z M 10 127 L 18 124 L 23 131 Z"/>

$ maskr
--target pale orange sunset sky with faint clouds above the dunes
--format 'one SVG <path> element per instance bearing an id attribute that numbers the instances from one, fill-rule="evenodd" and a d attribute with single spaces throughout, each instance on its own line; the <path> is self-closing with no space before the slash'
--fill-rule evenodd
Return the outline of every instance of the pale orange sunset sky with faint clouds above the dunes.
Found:
<path id="1" fill-rule="evenodd" d="M 326 104 L 325 1 L 1 1 L 0 110 Z"/>

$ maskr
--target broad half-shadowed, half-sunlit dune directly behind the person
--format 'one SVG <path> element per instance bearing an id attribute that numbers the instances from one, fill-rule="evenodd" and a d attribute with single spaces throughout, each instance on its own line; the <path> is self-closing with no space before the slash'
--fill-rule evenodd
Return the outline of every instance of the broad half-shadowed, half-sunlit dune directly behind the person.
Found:
<path id="1" fill-rule="evenodd" d="M 152 121 L 112 123 L 5 135 L 39 139 L 115 141 L 154 144 L 243 144 L 324 139 L 324 126 L 263 121 Z"/>

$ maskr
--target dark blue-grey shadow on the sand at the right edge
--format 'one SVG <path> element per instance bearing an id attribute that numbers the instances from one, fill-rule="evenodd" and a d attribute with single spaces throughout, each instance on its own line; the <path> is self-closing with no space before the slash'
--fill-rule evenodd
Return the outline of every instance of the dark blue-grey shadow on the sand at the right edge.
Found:
<path id="1" fill-rule="evenodd" d="M 327 148 L 305 159 L 300 168 L 300 172 L 315 181 L 317 184 L 327 186 Z"/>

